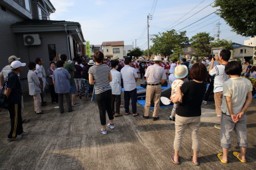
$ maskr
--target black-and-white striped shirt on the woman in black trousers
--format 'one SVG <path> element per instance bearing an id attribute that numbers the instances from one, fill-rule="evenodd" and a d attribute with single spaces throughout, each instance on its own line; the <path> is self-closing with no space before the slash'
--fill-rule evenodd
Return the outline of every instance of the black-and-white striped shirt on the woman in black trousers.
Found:
<path id="1" fill-rule="evenodd" d="M 106 64 L 94 65 L 89 68 L 88 74 L 92 74 L 95 80 L 95 95 L 111 90 L 109 72 L 110 68 Z"/>

